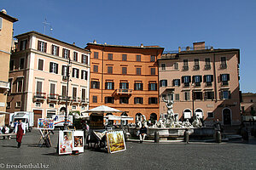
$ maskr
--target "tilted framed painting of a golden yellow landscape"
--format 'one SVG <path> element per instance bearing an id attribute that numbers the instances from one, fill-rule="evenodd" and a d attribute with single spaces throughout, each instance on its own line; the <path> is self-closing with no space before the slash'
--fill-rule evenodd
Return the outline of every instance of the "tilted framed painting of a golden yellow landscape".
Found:
<path id="1" fill-rule="evenodd" d="M 123 131 L 110 131 L 106 133 L 108 153 L 126 150 L 125 136 Z"/>

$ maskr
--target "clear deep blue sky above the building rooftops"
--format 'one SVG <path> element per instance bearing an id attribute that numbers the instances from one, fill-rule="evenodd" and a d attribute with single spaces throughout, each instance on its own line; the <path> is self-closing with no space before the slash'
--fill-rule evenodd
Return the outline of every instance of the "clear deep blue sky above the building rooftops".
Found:
<path id="1" fill-rule="evenodd" d="M 256 0 L 0 0 L 19 19 L 15 35 L 45 34 L 84 48 L 96 39 L 116 45 L 159 45 L 165 50 L 206 42 L 241 49 L 241 91 L 256 93 Z"/>

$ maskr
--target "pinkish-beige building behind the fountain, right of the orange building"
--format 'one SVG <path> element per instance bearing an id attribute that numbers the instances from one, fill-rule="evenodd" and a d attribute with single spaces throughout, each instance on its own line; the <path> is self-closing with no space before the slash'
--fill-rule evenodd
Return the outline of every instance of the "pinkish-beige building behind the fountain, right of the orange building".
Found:
<path id="1" fill-rule="evenodd" d="M 199 116 L 206 124 L 216 119 L 224 125 L 241 122 L 239 49 L 214 49 L 205 42 L 158 59 L 160 114 L 166 113 L 164 99 L 173 99 L 180 120 Z"/>

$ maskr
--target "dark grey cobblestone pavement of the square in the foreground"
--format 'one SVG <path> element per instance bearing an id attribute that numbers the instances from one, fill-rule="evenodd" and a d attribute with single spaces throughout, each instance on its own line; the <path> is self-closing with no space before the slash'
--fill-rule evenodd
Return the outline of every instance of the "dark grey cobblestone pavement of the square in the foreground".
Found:
<path id="1" fill-rule="evenodd" d="M 84 150 L 78 156 L 56 154 L 57 132 L 51 135 L 54 147 L 38 147 L 39 131 L 26 133 L 21 148 L 15 139 L 0 139 L 0 167 L 42 166 L 49 169 L 256 169 L 256 139 L 248 143 L 165 143 L 127 142 L 127 150 L 108 154 Z M 7 168 L 9 167 L 9 168 Z"/>

